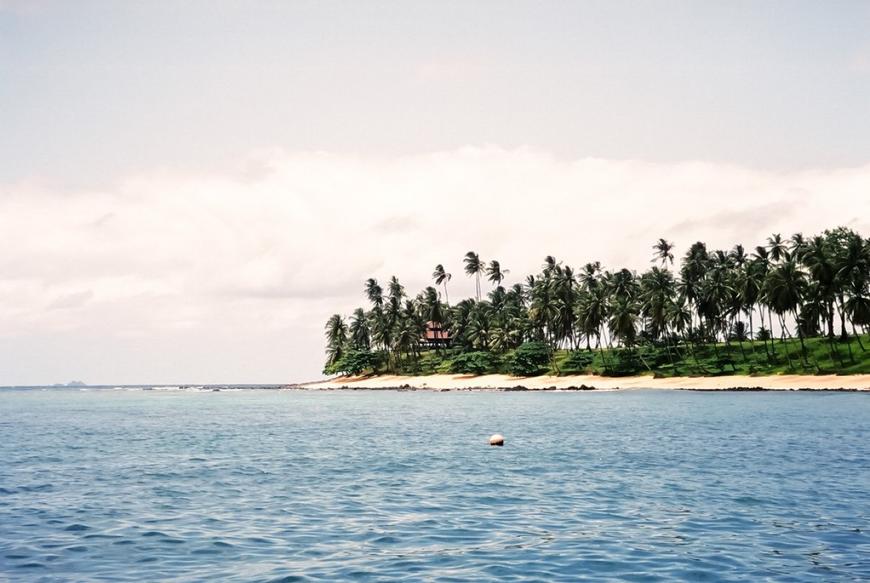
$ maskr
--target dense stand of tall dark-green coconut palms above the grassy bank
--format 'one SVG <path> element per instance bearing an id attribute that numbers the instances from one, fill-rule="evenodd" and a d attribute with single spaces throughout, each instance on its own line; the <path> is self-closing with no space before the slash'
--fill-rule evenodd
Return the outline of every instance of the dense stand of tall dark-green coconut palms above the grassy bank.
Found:
<path id="1" fill-rule="evenodd" d="M 642 346 L 674 360 L 736 343 L 744 357 L 763 350 L 768 359 L 784 356 L 790 368 L 807 368 L 818 366 L 808 360 L 807 338 L 826 338 L 832 363 L 854 361 L 850 338 L 866 350 L 860 335 L 870 327 L 870 239 L 851 229 L 809 238 L 775 234 L 751 251 L 697 242 L 678 266 L 674 245 L 659 239 L 651 262 L 643 273 L 599 262 L 575 270 L 547 256 L 540 273 L 505 288 L 508 270 L 469 251 L 463 271 L 475 296 L 453 305 L 452 275 L 443 265 L 432 273 L 434 285 L 413 297 L 395 276 L 385 286 L 369 279 L 367 309 L 349 320 L 335 314 L 326 324 L 325 370 L 414 370 L 429 350 L 427 322 L 443 325 L 454 357 L 516 354 L 527 345 L 551 354 L 598 352 L 606 365 L 607 355 L 620 351 L 643 360 Z M 785 341 L 794 337 L 801 349 L 792 353 Z"/>

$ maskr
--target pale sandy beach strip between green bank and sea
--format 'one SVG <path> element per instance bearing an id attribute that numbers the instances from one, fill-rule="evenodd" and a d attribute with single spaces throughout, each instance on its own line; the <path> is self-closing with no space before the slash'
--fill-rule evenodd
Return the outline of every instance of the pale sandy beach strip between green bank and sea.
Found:
<path id="1" fill-rule="evenodd" d="M 336 377 L 296 385 L 312 390 L 430 390 L 430 391 L 617 391 L 661 389 L 689 391 L 870 391 L 870 374 L 768 375 L 717 377 L 651 376 L 601 377 L 570 375 L 512 377 L 502 374 L 376 375 Z"/>

